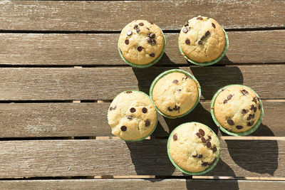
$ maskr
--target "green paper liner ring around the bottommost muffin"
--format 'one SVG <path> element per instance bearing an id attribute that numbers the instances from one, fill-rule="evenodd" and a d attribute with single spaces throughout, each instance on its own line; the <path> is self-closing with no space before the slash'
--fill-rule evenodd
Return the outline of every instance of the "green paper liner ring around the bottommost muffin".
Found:
<path id="1" fill-rule="evenodd" d="M 186 123 L 192 123 L 192 122 L 186 122 Z M 183 124 L 181 124 L 181 125 L 184 125 L 184 124 L 186 124 L 186 123 L 183 123 Z M 200 122 L 195 122 L 195 123 L 200 123 Z M 202 123 L 200 123 L 200 124 L 202 124 Z M 185 170 L 185 169 L 180 168 L 180 167 L 174 162 L 174 160 L 172 159 L 172 157 L 171 157 L 171 155 L 170 155 L 170 140 L 171 140 L 172 135 L 175 133 L 175 131 L 176 131 L 176 130 L 178 129 L 178 127 L 180 127 L 181 125 L 177 126 L 177 127 L 171 132 L 171 134 L 170 134 L 170 136 L 168 137 L 168 140 L 167 140 L 167 155 L 168 155 L 168 157 L 169 157 L 169 159 L 170 159 L 170 162 L 175 166 L 175 168 L 177 168 L 177 169 L 178 169 L 179 171 L 181 171 L 182 173 L 188 174 L 188 175 L 192 175 L 192 176 L 202 175 L 202 174 L 205 174 L 205 173 L 207 173 L 208 171 L 211 171 L 212 169 L 214 169 L 214 167 L 215 167 L 215 166 L 217 165 L 217 163 L 219 162 L 219 156 L 220 156 L 220 154 L 221 154 L 221 144 L 220 144 L 220 143 L 219 143 L 219 154 L 218 154 L 218 156 L 217 156 L 216 161 L 214 162 L 214 164 L 212 164 L 210 167 L 208 167 L 208 168 L 207 168 L 206 170 L 204 170 L 204 171 L 199 171 L 199 172 L 187 171 L 187 170 Z M 202 125 L 204 125 L 204 124 L 202 124 Z M 207 125 L 205 125 L 205 126 L 208 127 Z M 213 130 L 212 130 L 211 128 L 208 127 L 208 129 L 213 132 Z M 214 132 L 213 132 L 213 134 L 217 137 L 217 134 L 215 134 Z M 218 140 L 218 142 L 219 142 L 219 140 Z"/>

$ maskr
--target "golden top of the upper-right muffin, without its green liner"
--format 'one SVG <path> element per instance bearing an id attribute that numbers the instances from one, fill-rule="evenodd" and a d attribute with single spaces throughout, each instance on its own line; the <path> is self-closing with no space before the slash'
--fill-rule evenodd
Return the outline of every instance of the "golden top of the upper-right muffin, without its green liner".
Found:
<path id="1" fill-rule="evenodd" d="M 226 44 L 224 31 L 219 23 L 204 16 L 187 21 L 178 40 L 185 56 L 199 63 L 218 58 Z"/>

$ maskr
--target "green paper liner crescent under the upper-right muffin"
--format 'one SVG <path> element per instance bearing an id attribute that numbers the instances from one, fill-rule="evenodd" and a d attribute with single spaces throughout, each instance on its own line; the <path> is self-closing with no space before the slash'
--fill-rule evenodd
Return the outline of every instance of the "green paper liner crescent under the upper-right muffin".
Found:
<path id="1" fill-rule="evenodd" d="M 224 28 L 222 28 L 222 30 L 224 31 Z M 200 66 L 208 66 L 208 65 L 213 65 L 214 63 L 217 63 L 219 62 L 219 60 L 221 60 L 224 55 L 227 53 L 227 49 L 229 48 L 229 37 L 227 36 L 227 32 L 224 31 L 224 37 L 226 38 L 226 44 L 224 45 L 224 50 L 222 51 L 222 54 L 216 58 L 215 60 L 212 60 L 212 61 L 209 61 L 209 62 L 204 62 L 204 63 L 199 63 L 199 62 L 196 62 L 194 60 L 191 60 L 190 58 L 188 58 L 187 56 L 185 56 L 185 53 L 183 53 L 181 47 L 180 47 L 180 42 L 178 40 L 178 47 L 179 47 L 179 50 L 180 50 L 180 53 L 182 54 L 182 56 L 187 59 L 190 63 L 193 63 L 195 65 L 200 65 Z"/>

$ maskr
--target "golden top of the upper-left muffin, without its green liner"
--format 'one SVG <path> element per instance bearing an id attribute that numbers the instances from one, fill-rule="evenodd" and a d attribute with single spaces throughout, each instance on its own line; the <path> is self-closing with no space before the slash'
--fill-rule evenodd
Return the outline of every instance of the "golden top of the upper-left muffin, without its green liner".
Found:
<path id="1" fill-rule="evenodd" d="M 119 38 L 123 57 L 137 65 L 152 63 L 162 53 L 164 43 L 160 27 L 144 20 L 128 23 Z"/>

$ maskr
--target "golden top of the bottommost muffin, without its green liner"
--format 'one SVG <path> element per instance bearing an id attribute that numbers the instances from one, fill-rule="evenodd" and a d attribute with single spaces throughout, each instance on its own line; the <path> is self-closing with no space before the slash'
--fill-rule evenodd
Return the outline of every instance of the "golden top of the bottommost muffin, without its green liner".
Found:
<path id="1" fill-rule="evenodd" d="M 190 172 L 206 170 L 219 155 L 219 139 L 199 122 L 187 122 L 172 132 L 169 152 L 173 161 Z"/>

